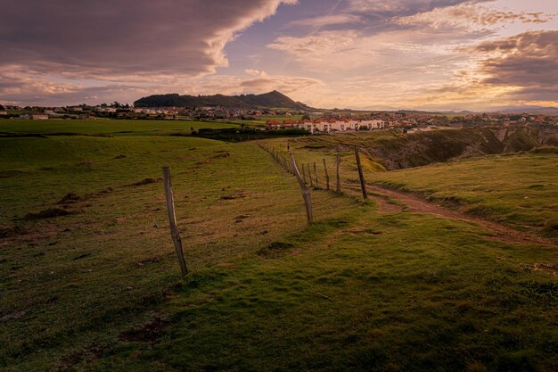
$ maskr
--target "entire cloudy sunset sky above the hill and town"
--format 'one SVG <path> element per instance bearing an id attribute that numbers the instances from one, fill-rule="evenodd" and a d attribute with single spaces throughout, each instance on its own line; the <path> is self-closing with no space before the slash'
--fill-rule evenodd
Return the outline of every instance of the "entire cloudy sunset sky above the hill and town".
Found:
<path id="1" fill-rule="evenodd" d="M 555 0 L 0 0 L 0 103 L 558 107 Z"/>

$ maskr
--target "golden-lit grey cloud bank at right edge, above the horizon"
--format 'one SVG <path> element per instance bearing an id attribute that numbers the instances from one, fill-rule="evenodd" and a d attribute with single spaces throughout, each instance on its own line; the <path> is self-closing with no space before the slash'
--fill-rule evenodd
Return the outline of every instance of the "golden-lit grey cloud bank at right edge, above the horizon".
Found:
<path id="1" fill-rule="evenodd" d="M 542 104 L 558 96 L 558 31 L 528 31 L 460 49 L 476 61 L 417 100 L 431 108 Z"/>

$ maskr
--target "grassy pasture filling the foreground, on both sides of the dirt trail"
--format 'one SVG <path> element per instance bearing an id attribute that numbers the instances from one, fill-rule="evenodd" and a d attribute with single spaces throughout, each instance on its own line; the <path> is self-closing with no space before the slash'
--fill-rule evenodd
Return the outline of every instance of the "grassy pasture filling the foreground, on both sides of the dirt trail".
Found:
<path id="1" fill-rule="evenodd" d="M 70 123 L 21 133 L 80 130 Z M 120 125 L 109 123 L 107 133 L 132 133 L 0 138 L 0 369 L 558 366 L 555 246 L 503 243 L 464 220 L 379 213 L 357 198 L 350 153 L 343 153 L 345 194 L 313 190 L 316 224 L 306 227 L 298 184 L 257 144 L 151 136 L 170 132 L 155 122 L 113 124 Z M 284 151 L 285 141 L 267 143 Z M 332 171 L 333 153 L 292 141 L 300 162 L 325 158 Z M 537 211 L 555 218 L 545 187 L 556 184 L 556 156 L 365 168 L 369 182 L 494 205 L 493 216 L 506 215 L 498 199 L 511 210 L 529 203 L 503 222 L 536 229 Z M 186 279 L 168 231 L 163 165 L 173 172 Z M 69 214 L 26 218 L 49 208 Z"/>

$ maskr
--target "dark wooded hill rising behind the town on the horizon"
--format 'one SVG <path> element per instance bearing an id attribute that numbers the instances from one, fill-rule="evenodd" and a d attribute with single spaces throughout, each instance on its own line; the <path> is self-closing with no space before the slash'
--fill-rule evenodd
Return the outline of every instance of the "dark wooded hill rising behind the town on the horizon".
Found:
<path id="1" fill-rule="evenodd" d="M 140 98 L 135 107 L 238 107 L 244 109 L 283 108 L 291 110 L 308 110 L 304 103 L 295 102 L 286 95 L 274 90 L 263 95 L 150 95 Z"/>

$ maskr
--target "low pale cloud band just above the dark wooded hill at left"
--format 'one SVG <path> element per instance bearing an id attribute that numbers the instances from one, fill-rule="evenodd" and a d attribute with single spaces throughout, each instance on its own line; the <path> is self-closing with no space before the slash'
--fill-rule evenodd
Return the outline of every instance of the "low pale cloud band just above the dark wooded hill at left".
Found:
<path id="1" fill-rule="evenodd" d="M 119 101 L 133 103 L 138 97 L 178 92 L 181 95 L 240 95 L 279 90 L 302 100 L 309 89 L 324 83 L 318 79 L 296 76 L 270 75 L 265 71 L 246 70 L 247 79 L 232 75 L 204 75 L 193 78 L 161 77 L 157 83 L 137 81 L 134 84 L 104 83 L 95 81 L 85 85 L 80 80 L 52 79 L 48 74 L 22 70 L 12 66 L 0 76 L 0 103 L 60 104 L 102 103 Z M 110 98 L 107 98 L 110 97 Z"/>

